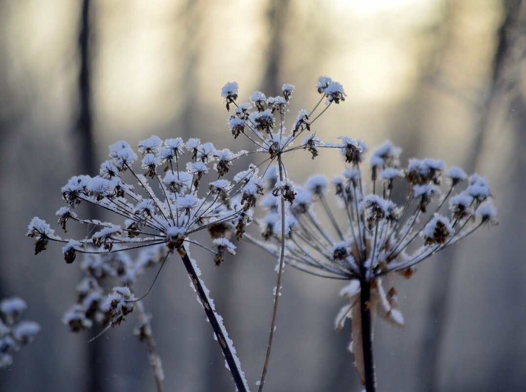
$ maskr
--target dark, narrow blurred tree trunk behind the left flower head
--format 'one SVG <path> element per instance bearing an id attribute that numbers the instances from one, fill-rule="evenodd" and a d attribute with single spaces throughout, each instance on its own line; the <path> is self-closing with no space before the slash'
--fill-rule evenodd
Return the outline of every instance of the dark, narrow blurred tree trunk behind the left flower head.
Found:
<path id="1" fill-rule="evenodd" d="M 89 0 L 82 0 L 80 6 L 80 20 L 78 32 L 78 54 L 79 54 L 79 74 L 78 74 L 78 99 L 79 107 L 77 122 L 74 129 L 77 146 L 74 150 L 78 151 L 76 155 L 78 169 L 88 175 L 97 174 L 97 160 L 95 154 L 94 137 L 93 137 L 93 115 L 92 115 L 92 92 L 90 79 L 90 43 L 92 43 L 91 26 L 93 21 L 93 6 Z M 87 216 L 91 219 L 99 219 L 100 214 L 95 205 L 88 204 Z M 95 330 L 94 334 L 98 331 Z M 107 379 L 106 366 L 104 366 L 104 340 L 95 339 L 86 344 L 87 361 L 86 378 L 84 386 L 86 392 L 102 392 L 105 389 L 103 380 Z"/>

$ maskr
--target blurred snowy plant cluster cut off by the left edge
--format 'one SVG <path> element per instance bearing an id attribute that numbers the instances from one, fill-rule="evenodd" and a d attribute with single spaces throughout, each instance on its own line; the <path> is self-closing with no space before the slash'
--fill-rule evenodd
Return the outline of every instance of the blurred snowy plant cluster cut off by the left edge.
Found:
<path id="1" fill-rule="evenodd" d="M 11 365 L 13 355 L 31 343 L 40 330 L 35 321 L 20 319 L 26 309 L 26 302 L 19 297 L 0 301 L 0 369 Z"/>

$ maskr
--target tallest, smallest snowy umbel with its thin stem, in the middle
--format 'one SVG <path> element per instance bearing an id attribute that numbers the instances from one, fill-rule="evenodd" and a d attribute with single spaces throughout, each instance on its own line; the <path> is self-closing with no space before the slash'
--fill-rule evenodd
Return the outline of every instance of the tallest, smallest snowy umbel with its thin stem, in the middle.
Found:
<path id="1" fill-rule="evenodd" d="M 347 96 L 340 83 L 332 81 L 332 79 L 327 76 L 321 76 L 316 83 L 316 89 L 321 95 L 318 103 L 310 112 L 301 109 L 295 121 L 292 123 L 290 130 L 287 130 L 285 127 L 285 115 L 289 111 L 289 100 L 294 95 L 294 89 L 294 85 L 285 84 L 282 86 L 282 96 L 268 98 L 264 93 L 256 91 L 250 96 L 248 102 L 240 104 L 237 103 L 238 85 L 236 82 L 228 82 L 221 89 L 221 97 L 225 99 L 227 110 L 230 111 L 232 105 L 235 106 L 234 113 L 230 115 L 227 121 L 232 136 L 236 139 L 240 135 L 243 135 L 255 146 L 255 149 L 252 150 L 251 153 L 262 153 L 267 156 L 266 159 L 260 163 L 260 166 L 266 164 L 264 175 L 267 173 L 271 163 L 277 161 L 279 176 L 277 176 L 276 183 L 274 184 L 274 188 L 271 189 L 271 192 L 275 196 L 281 196 L 282 214 L 281 217 L 277 217 L 276 220 L 280 220 L 282 228 L 285 227 L 287 221 L 285 202 L 289 204 L 294 203 L 297 194 L 294 184 L 287 176 L 282 155 L 303 149 L 311 154 L 312 159 L 318 156 L 319 148 L 325 145 L 316 133 L 311 132 L 312 124 L 325 113 L 331 105 L 339 104 L 344 101 Z M 316 110 L 323 100 L 325 100 L 325 107 L 316 113 Z M 301 139 L 300 136 L 304 133 L 308 133 L 308 135 Z M 302 140 L 301 143 L 299 143 L 300 140 Z M 276 223 L 276 225 L 279 226 L 278 223 Z M 281 249 L 285 250 L 285 237 L 282 238 Z M 278 277 L 274 289 L 274 309 L 272 311 L 267 355 L 261 380 L 259 381 L 259 391 L 262 390 L 265 384 L 272 337 L 274 336 L 276 326 L 276 312 L 283 267 L 284 253 L 281 253 L 277 267 Z"/>

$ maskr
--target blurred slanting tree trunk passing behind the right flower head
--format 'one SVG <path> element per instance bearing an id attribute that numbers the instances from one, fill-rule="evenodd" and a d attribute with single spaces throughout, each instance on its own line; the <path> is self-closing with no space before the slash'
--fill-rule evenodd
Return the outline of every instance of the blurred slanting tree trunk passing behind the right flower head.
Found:
<path id="1" fill-rule="evenodd" d="M 523 34 L 520 31 L 520 26 L 524 26 L 526 22 L 525 7 L 522 1 L 509 0 L 505 0 L 503 6 L 505 15 L 498 32 L 498 45 L 493 59 L 492 77 L 487 94 L 479 106 L 478 119 L 474 123 L 475 136 L 464 164 L 467 173 L 477 171 L 484 140 L 487 139 L 490 130 L 495 126 L 495 120 L 499 117 L 498 112 L 503 109 L 504 100 L 502 98 L 510 92 L 516 81 L 520 80 L 519 69 L 514 64 L 517 63 L 518 56 L 519 58 L 524 56 L 524 53 L 519 54 L 517 50 L 524 51 L 524 44 L 518 38 L 519 35 Z M 504 108 L 504 110 L 507 109 Z M 507 112 L 509 111 L 508 109 Z M 521 125 L 524 126 L 524 124 Z M 517 143 L 516 145 L 520 144 Z M 521 155 L 519 153 L 516 157 Z M 440 348 L 447 326 L 447 308 L 451 291 L 453 263 L 458 259 L 456 254 L 459 250 L 458 246 L 446 249 L 441 254 L 440 263 L 434 267 L 433 276 L 438 278 L 431 281 L 431 298 L 423 325 L 424 335 L 418 361 L 420 364 L 420 387 L 424 392 L 437 392 L 439 390 Z"/>

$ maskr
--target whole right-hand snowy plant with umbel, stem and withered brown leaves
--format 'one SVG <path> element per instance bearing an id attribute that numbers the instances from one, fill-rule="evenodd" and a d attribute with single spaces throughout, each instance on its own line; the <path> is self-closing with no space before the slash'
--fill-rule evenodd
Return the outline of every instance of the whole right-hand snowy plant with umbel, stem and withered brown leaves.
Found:
<path id="1" fill-rule="evenodd" d="M 336 328 L 341 330 L 345 320 L 352 319 L 349 349 L 370 392 L 375 390 L 371 346 L 375 316 L 395 327 L 404 325 L 396 309 L 396 274 L 411 277 L 416 264 L 481 226 L 496 224 L 497 214 L 485 178 L 477 174 L 468 178 L 460 168 L 446 172 L 444 163 L 434 159 L 411 159 L 407 168 L 401 168 L 401 149 L 390 142 L 370 158 L 369 193 L 361 168 L 365 144 L 348 137 L 340 140 L 336 147 L 349 167 L 331 185 L 327 178 L 315 176 L 297 187 L 294 203 L 286 207 L 285 229 L 276 224 L 282 207 L 275 196 L 267 196 L 261 204 L 269 213 L 259 222 L 263 239 L 250 240 L 278 255 L 286 237 L 289 265 L 351 281 L 341 291 L 349 303 L 338 313 Z M 441 190 L 444 172 L 447 180 Z"/>

